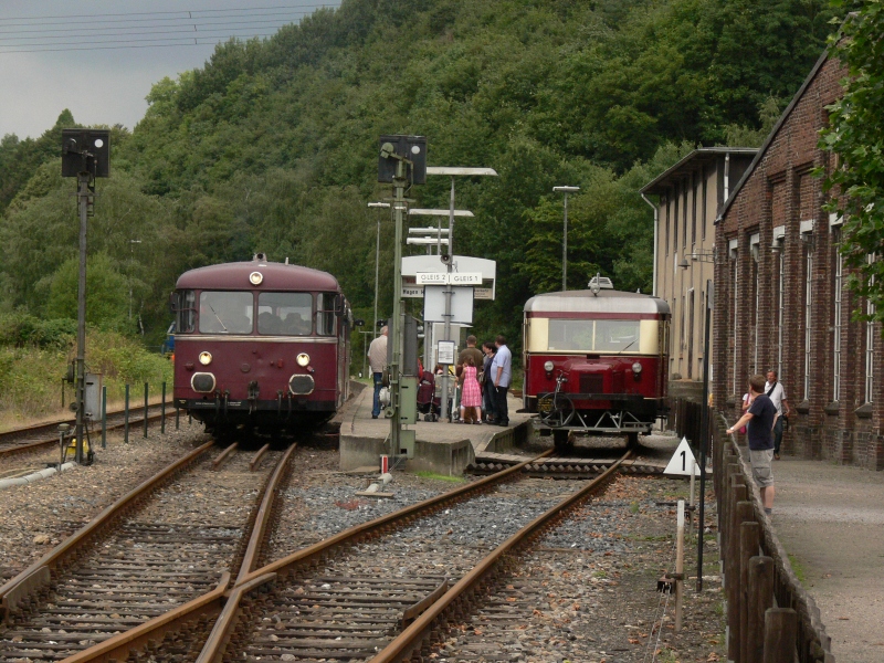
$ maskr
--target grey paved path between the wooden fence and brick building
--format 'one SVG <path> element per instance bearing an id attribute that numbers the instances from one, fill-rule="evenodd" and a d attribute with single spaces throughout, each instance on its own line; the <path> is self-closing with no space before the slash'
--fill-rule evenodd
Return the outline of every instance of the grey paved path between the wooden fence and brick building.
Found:
<path id="1" fill-rule="evenodd" d="M 782 456 L 774 528 L 836 661 L 884 661 L 884 473 Z"/>

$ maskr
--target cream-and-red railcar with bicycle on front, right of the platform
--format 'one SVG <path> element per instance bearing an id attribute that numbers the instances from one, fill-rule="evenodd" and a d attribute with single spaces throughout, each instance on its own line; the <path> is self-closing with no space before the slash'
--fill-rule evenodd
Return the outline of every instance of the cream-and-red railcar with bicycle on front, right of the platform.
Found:
<path id="1" fill-rule="evenodd" d="M 525 408 L 557 446 L 570 431 L 634 444 L 664 413 L 670 307 L 607 278 L 590 286 L 525 304 Z"/>

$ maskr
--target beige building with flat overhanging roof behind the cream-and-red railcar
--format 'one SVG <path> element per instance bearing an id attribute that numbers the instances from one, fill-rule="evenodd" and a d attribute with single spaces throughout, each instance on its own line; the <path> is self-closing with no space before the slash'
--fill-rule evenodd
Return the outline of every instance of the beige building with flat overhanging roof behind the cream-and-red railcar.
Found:
<path id="1" fill-rule="evenodd" d="M 695 149 L 641 189 L 643 196 L 657 200 L 653 294 L 669 302 L 672 311 L 669 375 L 673 397 L 702 400 L 703 325 L 706 281 L 713 277 L 715 219 L 757 151 Z"/>

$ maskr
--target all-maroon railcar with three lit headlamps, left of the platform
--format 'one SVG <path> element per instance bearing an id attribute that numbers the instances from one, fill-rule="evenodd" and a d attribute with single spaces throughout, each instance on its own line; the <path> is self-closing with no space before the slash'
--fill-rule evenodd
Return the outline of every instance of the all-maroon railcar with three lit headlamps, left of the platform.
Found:
<path id="1" fill-rule="evenodd" d="M 175 401 L 209 430 L 294 431 L 346 400 L 352 318 L 330 274 L 259 253 L 186 272 L 172 307 Z"/>

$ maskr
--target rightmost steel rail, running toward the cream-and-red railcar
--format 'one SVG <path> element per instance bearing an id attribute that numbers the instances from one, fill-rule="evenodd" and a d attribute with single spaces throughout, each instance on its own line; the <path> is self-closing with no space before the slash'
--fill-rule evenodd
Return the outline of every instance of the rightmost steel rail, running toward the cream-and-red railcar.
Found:
<path id="1" fill-rule="evenodd" d="M 446 610 L 454 607 L 456 601 L 467 596 L 471 591 L 475 591 L 480 582 L 492 572 L 493 568 L 504 557 L 515 552 L 519 546 L 527 544 L 532 538 L 541 534 L 544 529 L 550 527 L 557 519 L 564 517 L 567 511 L 603 486 L 620 469 L 620 463 L 625 461 L 631 453 L 631 451 L 628 451 L 620 461 L 592 480 L 587 486 L 562 502 L 559 502 L 556 506 L 525 525 L 525 527 L 497 546 L 491 555 L 473 567 L 473 569 L 461 578 L 461 580 L 441 599 L 417 618 L 392 642 L 383 648 L 383 650 L 378 652 L 369 663 L 398 663 L 409 660 L 414 650 L 423 646 L 424 641 L 431 635 L 433 624 L 438 619 L 443 618 Z"/>

